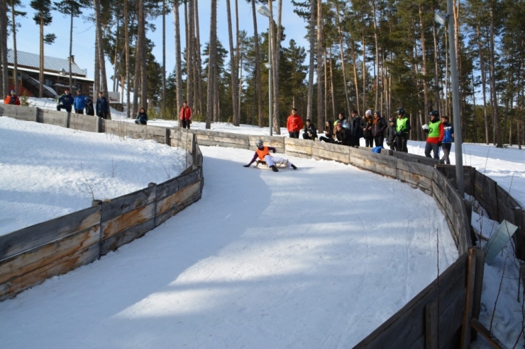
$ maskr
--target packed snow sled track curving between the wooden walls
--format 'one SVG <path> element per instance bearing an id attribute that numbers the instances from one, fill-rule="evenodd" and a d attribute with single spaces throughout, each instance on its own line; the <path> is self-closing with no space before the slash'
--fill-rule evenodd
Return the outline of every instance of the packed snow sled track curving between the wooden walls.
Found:
<path id="1" fill-rule="evenodd" d="M 399 181 L 201 149 L 199 202 L 1 302 L 1 346 L 351 348 L 436 278 L 436 230 L 440 270 L 458 256 L 433 199 Z"/>

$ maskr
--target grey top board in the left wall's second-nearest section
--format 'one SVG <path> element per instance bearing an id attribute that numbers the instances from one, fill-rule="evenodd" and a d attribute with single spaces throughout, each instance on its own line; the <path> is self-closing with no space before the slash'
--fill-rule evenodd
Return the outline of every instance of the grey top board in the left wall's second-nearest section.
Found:
<path id="1" fill-rule="evenodd" d="M 156 185 L 152 185 L 148 188 L 138 190 L 135 193 L 122 195 L 108 202 L 102 202 L 101 221 L 106 222 L 121 214 L 126 214 L 139 207 L 144 207 L 155 202 L 155 193 Z"/>

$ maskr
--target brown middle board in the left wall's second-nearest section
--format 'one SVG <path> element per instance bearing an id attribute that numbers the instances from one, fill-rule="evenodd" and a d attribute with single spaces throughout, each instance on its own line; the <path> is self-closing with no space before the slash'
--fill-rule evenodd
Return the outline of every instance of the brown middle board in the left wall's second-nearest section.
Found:
<path id="1" fill-rule="evenodd" d="M 155 193 L 155 192 L 154 192 Z M 104 209 L 102 210 L 104 212 Z M 153 219 L 155 215 L 155 202 L 149 205 L 140 206 L 135 210 L 123 214 L 117 214 L 116 217 L 102 221 L 102 240 L 110 236 L 120 234 L 122 231 L 130 229 L 133 226 L 147 222 Z"/>

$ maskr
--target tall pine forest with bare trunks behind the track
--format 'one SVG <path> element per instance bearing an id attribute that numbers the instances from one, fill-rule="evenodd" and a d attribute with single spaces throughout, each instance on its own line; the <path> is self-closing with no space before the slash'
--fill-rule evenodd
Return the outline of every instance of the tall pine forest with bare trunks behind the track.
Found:
<path id="1" fill-rule="evenodd" d="M 155 117 L 176 119 L 187 100 L 206 127 L 219 121 L 262 127 L 268 122 L 271 73 L 276 133 L 292 107 L 319 128 L 339 112 L 350 115 L 355 109 L 363 115 L 372 109 L 388 118 L 403 107 L 416 140 L 424 139 L 421 125 L 431 110 L 452 115 L 448 33 L 434 21 L 436 11 L 446 13 L 446 1 L 292 0 L 294 12 L 304 18 L 309 47 L 286 40 L 282 0 L 241 0 L 252 8 L 252 36 L 238 29 L 238 1 L 232 6 L 231 0 L 210 0 L 211 16 L 204 19 L 198 0 L 32 0 L 29 6 L 40 28 L 41 57 L 45 43 L 55 38 L 45 33 L 53 10 L 70 18 L 70 52 L 74 18 L 89 13 L 86 18 L 96 30 L 96 87 L 108 91 L 106 57 L 115 71 L 112 89 L 126 93 L 122 99 L 133 105 L 133 114 L 147 105 Z M 226 45 L 217 39 L 218 2 L 227 7 L 227 17 L 219 18 L 228 21 Z M 267 18 L 256 11 L 260 4 L 272 12 L 272 35 Z M 0 13 L 6 13 L 0 15 L 5 95 L 7 40 L 16 48 L 16 18 L 29 8 L 20 0 L 1 1 L 1 6 Z M 455 26 L 463 140 L 497 147 L 522 144 L 525 0 L 455 0 L 453 7 L 448 20 Z M 152 23 L 159 16 L 162 42 L 152 42 L 148 33 L 157 29 Z M 166 33 L 171 16 L 175 33 Z M 210 23 L 210 33 L 202 33 L 207 40 L 201 40 L 199 21 Z M 175 52 L 165 52 L 166 40 L 175 40 Z M 161 62 L 152 54 L 155 45 L 163 47 Z M 270 71 L 261 65 L 270 62 L 268 45 L 274 52 Z M 166 54 L 175 55 L 175 67 L 166 67 Z"/>

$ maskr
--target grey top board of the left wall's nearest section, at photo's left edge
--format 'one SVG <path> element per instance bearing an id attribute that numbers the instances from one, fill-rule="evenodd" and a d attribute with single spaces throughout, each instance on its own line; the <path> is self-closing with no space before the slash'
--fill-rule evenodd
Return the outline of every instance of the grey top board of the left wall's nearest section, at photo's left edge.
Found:
<path id="1" fill-rule="evenodd" d="M 61 239 L 74 231 L 82 231 L 100 224 L 101 209 L 84 210 L 50 219 L 9 234 L 0 235 L 0 261 L 32 248 Z"/>

